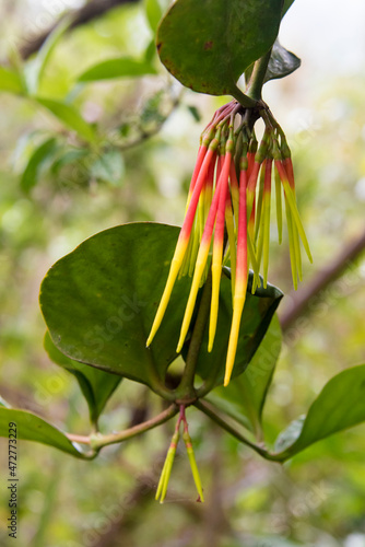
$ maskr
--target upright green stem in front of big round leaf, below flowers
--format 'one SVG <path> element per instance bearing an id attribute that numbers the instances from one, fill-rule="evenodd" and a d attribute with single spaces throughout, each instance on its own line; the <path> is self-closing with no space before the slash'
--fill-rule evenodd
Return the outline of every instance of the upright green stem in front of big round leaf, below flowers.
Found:
<path id="1" fill-rule="evenodd" d="M 189 398 L 196 399 L 193 380 L 196 375 L 196 368 L 200 352 L 200 347 L 203 339 L 207 322 L 209 318 L 211 292 L 212 292 L 212 272 L 210 270 L 203 288 L 203 293 L 201 295 L 198 316 L 196 324 L 193 326 L 181 382 L 175 392 L 175 397 L 176 397 L 175 400 L 179 400 L 180 404 L 182 404 L 184 399 L 189 399 Z"/>

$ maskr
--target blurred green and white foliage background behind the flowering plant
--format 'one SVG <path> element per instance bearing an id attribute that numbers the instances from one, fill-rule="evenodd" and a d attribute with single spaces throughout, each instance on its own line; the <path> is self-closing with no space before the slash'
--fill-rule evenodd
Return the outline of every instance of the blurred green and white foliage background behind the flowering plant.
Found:
<path id="1" fill-rule="evenodd" d="M 180 224 L 200 132 L 227 100 L 181 90 L 151 47 L 149 2 L 119 3 L 89 2 L 104 4 L 103 13 L 60 39 L 38 90 L 43 97 L 74 104 L 86 121 L 97 124 L 103 136 L 97 150 L 82 147 L 32 98 L 1 93 L 0 395 L 80 434 L 89 432 L 86 405 L 74 379 L 43 349 L 40 281 L 58 258 L 101 230 L 146 220 Z M 17 67 L 28 58 L 31 72 L 37 38 L 61 14 L 84 5 L 81 0 L 2 0 L 1 65 Z M 294 156 L 298 206 L 314 255 L 313 266 L 304 260 L 305 287 L 364 237 L 365 3 L 350 0 L 344 8 L 340 0 L 296 0 L 280 38 L 302 58 L 302 68 L 269 82 L 263 98 Z M 118 56 L 149 58 L 156 74 L 78 83 L 90 66 Z M 31 163 L 51 138 L 49 153 Z M 283 317 L 295 298 L 287 242 L 279 246 L 275 237 L 273 225 L 270 281 L 286 294 Z M 320 289 L 310 315 L 285 330 L 264 410 L 269 442 L 307 410 L 332 375 L 365 362 L 365 260 L 358 253 L 344 263 L 343 275 Z M 153 395 L 125 381 L 101 428 L 120 430 L 155 409 Z M 200 412 L 190 409 L 188 419 L 204 504 L 195 501 L 182 451 L 166 503 L 153 500 L 170 423 L 104 449 L 94 462 L 21 442 L 19 545 L 365 547 L 364 426 L 279 466 Z M 0 439 L 1 470 L 8 465 L 5 449 Z M 0 484 L 0 538 L 8 545 L 3 476 Z"/>

